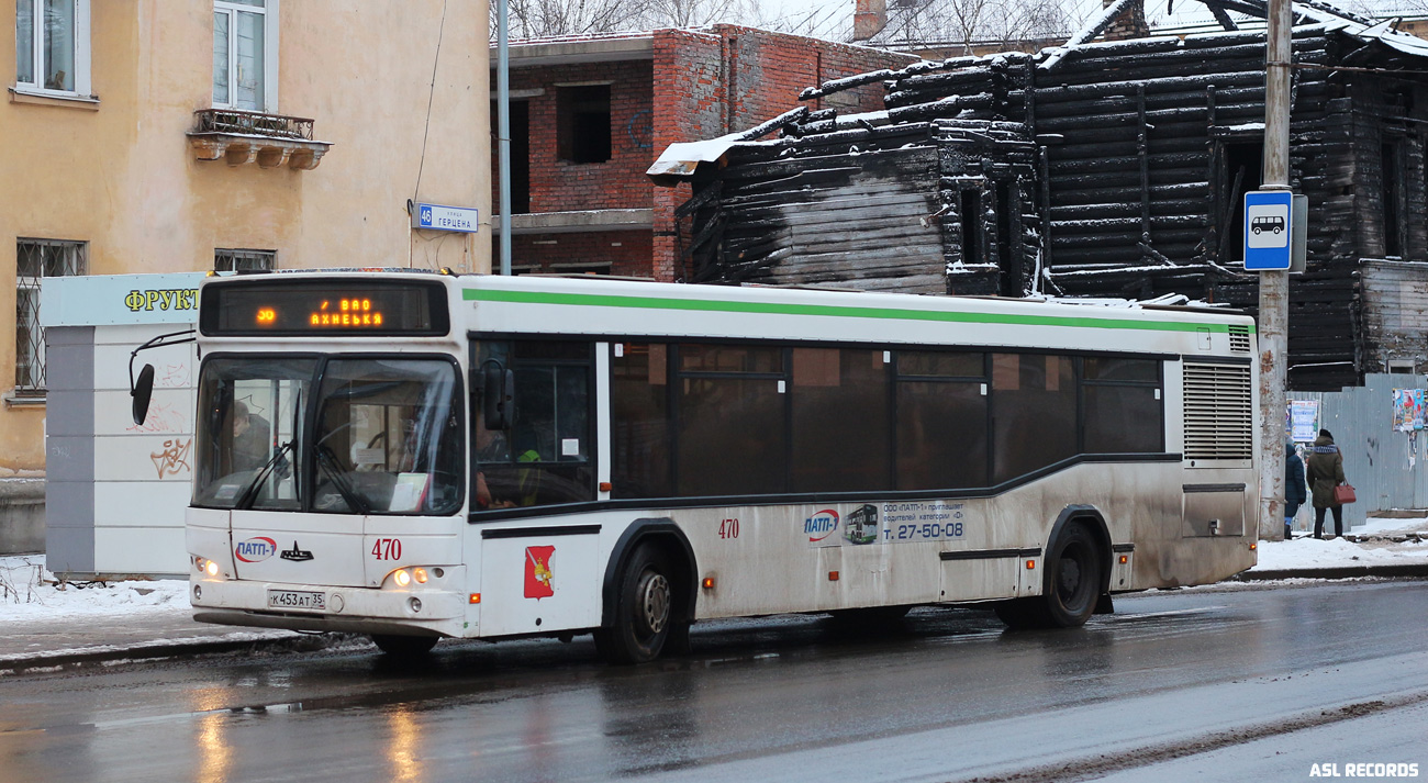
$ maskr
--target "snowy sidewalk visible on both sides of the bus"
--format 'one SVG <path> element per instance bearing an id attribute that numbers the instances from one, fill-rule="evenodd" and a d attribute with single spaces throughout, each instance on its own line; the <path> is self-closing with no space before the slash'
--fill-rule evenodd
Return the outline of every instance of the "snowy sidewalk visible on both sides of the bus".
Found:
<path id="1" fill-rule="evenodd" d="M 1372 519 L 1345 539 L 1261 542 L 1259 564 L 1235 579 L 1365 576 L 1428 579 L 1428 519 Z M 286 630 L 197 623 L 187 582 L 56 586 L 43 554 L 0 557 L 0 676 L 74 663 L 327 644 Z"/>

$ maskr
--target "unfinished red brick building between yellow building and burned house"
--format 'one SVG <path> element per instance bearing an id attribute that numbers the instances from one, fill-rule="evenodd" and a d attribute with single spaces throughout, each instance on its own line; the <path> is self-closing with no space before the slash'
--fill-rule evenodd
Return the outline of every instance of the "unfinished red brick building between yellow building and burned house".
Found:
<path id="1" fill-rule="evenodd" d="M 645 177 L 661 150 L 757 126 L 800 106 L 794 96 L 805 86 L 915 60 L 728 24 L 513 41 L 514 270 L 683 279 L 690 237 L 675 234 L 674 209 L 690 193 Z M 824 104 L 871 111 L 883 107 L 883 90 L 807 103 Z"/>

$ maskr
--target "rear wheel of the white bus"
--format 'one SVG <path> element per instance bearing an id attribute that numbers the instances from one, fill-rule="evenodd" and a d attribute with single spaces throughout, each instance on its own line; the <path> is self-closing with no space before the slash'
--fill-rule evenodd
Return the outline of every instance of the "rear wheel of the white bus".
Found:
<path id="1" fill-rule="evenodd" d="M 1047 549 L 1041 596 L 997 604 L 997 617 L 1012 629 L 1084 626 L 1101 596 L 1105 563 L 1095 536 L 1071 524 Z"/>

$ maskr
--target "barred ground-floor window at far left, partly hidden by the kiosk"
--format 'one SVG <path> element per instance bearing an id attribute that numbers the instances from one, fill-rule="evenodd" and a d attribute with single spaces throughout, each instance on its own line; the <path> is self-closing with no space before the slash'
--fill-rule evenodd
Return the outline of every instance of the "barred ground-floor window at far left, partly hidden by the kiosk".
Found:
<path id="1" fill-rule="evenodd" d="M 21 239 L 16 247 L 14 386 L 17 394 L 44 393 L 44 329 L 40 280 L 84 274 L 84 243 Z"/>

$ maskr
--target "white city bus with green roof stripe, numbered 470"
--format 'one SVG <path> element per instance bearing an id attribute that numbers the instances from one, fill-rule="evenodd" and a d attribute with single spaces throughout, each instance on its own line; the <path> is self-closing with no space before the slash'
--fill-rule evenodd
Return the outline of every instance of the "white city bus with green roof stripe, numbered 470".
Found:
<path id="1" fill-rule="evenodd" d="M 1255 562 L 1240 314 L 417 273 L 200 303 L 203 622 L 643 662 L 714 617 L 1080 626 Z"/>

